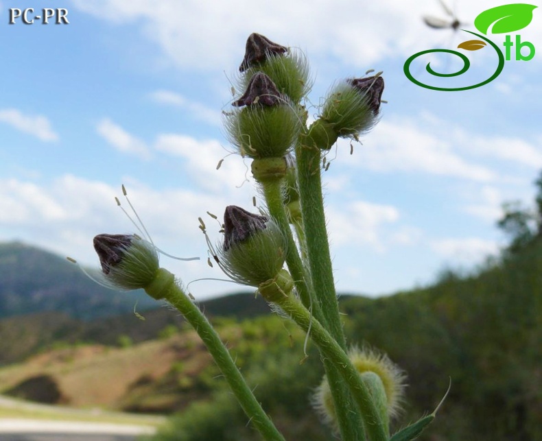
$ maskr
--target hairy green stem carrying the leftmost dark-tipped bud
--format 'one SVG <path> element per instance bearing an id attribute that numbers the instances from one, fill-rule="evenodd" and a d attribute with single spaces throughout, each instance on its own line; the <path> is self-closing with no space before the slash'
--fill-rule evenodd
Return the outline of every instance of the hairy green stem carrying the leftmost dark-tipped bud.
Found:
<path id="1" fill-rule="evenodd" d="M 153 283 L 152 286 L 146 287 L 145 291 L 154 298 L 164 298 L 167 300 L 193 326 L 193 329 L 200 335 L 209 353 L 213 356 L 215 363 L 222 370 L 224 378 L 228 381 L 233 394 L 235 394 L 235 398 L 237 398 L 237 401 L 239 401 L 248 416 L 250 424 L 261 433 L 264 440 L 285 441 L 281 433 L 274 427 L 269 416 L 261 408 L 254 394 L 252 394 L 252 390 L 246 384 L 241 372 L 235 366 L 235 362 L 231 358 L 228 349 L 222 343 L 222 340 L 211 323 L 209 323 L 209 320 L 194 305 L 185 292 L 182 291 L 178 283 L 175 282 L 174 275 L 164 268 L 160 268 L 155 280 L 161 283 Z M 157 285 L 160 286 L 160 292 L 156 292 L 156 289 L 154 289 Z"/>

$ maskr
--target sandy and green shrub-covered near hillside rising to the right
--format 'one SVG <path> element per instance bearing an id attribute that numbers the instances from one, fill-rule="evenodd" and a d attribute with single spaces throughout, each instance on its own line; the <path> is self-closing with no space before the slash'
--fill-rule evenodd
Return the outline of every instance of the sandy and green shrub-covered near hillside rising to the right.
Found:
<path id="1" fill-rule="evenodd" d="M 233 296 L 202 309 L 217 311 L 220 335 L 286 438 L 332 440 L 309 406 L 322 374 L 318 355 L 309 346 L 309 358 L 300 364 L 303 335 L 275 315 L 239 318 L 235 311 L 250 310 L 258 301 Z M 542 439 L 540 240 L 476 274 L 449 272 L 423 289 L 387 298 L 345 298 L 340 307 L 351 344 L 385 350 L 408 374 L 408 401 L 398 425 L 434 408 L 451 378 L 451 393 L 422 440 Z M 220 318 L 220 311 L 230 318 Z M 46 389 L 45 398 L 57 403 L 182 410 L 161 432 L 163 441 L 256 440 L 193 331 L 182 323 L 165 326 L 167 315 L 178 317 L 174 311 L 143 315 L 152 322 L 154 313 L 156 324 L 164 325 L 156 325 L 158 339 L 133 344 L 119 338 L 145 326 L 132 315 L 132 325 L 126 321 L 116 334 L 115 347 L 67 346 L 1 369 L 0 393 L 37 399 L 29 391 Z M 94 392 L 90 385 L 97 378 Z M 111 392 L 108 384 L 114 385 Z"/>

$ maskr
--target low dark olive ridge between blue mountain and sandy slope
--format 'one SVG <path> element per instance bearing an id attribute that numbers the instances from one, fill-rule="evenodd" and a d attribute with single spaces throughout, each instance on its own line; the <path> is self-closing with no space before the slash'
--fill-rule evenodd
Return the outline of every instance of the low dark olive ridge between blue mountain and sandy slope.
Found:
<path id="1" fill-rule="evenodd" d="M 64 312 L 51 311 L 0 319 L 0 366 L 23 361 L 36 352 L 59 346 L 137 344 L 171 335 L 182 328 L 184 320 L 180 314 L 156 305 L 154 302 L 155 309 L 141 311 L 139 317 L 130 310 L 113 317 L 80 320 Z M 130 306 L 133 309 L 133 300 Z M 231 294 L 204 300 L 200 307 L 209 318 L 241 320 L 270 313 L 267 303 L 253 294 Z"/>

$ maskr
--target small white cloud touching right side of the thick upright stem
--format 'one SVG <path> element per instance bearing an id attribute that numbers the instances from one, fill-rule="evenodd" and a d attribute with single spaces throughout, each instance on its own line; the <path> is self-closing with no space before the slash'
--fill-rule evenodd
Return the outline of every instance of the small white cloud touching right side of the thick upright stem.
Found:
<path id="1" fill-rule="evenodd" d="M 399 211 L 390 205 L 356 201 L 346 206 L 330 206 L 329 236 L 333 245 L 368 245 L 383 252 L 381 228 L 399 219 Z"/>

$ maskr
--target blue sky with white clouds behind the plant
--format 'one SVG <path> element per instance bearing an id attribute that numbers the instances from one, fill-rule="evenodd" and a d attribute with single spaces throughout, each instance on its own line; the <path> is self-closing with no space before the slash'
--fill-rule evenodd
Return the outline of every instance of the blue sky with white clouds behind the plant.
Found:
<path id="1" fill-rule="evenodd" d="M 461 29 L 476 31 L 475 16 L 502 4 L 450 6 Z M 11 8 L 33 8 L 29 18 L 64 8 L 69 24 L 9 24 Z M 114 200 L 125 184 L 158 248 L 201 257 L 161 265 L 185 285 L 225 278 L 207 265 L 198 217 L 219 241 L 207 212 L 257 211 L 253 196 L 263 206 L 250 160 L 231 154 L 222 128 L 232 88 L 242 92 L 246 38 L 258 32 L 307 57 L 311 117 L 335 82 L 384 72 L 379 123 L 352 155 L 351 140 L 340 140 L 322 176 L 338 291 L 386 295 L 427 285 L 446 268 L 472 270 L 506 245 L 495 226 L 502 204 L 530 204 L 542 169 L 541 14 L 511 33 L 534 45 L 532 60 L 512 57 L 493 82 L 442 92 L 403 73 L 416 52 L 473 38 L 423 23 L 424 15 L 449 19 L 438 0 L 1 0 L 0 241 L 97 267 L 95 235 L 136 233 Z M 495 71 L 491 49 L 467 56 L 464 84 Z M 428 57 L 435 68 L 458 65 Z M 412 73 L 426 78 L 421 64 Z M 223 281 L 189 288 L 198 299 L 238 290 Z"/>

